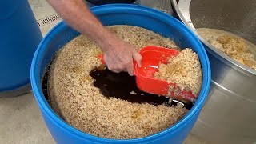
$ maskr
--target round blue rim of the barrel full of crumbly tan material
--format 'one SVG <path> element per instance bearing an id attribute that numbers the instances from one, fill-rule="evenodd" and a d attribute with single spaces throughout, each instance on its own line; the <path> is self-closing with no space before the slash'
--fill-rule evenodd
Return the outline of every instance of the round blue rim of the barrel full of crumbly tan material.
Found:
<path id="1" fill-rule="evenodd" d="M 145 12 L 151 13 L 150 17 L 153 17 L 153 18 L 158 18 L 158 19 L 163 18 L 165 19 L 165 22 L 171 23 L 173 26 L 178 26 L 182 30 L 185 30 L 187 33 L 186 36 L 194 39 L 194 45 L 201 48 L 202 54 L 201 53 L 200 55 L 198 54 L 198 57 L 200 61 L 202 61 L 201 62 L 202 70 L 203 70 L 202 71 L 203 72 L 202 88 L 201 88 L 200 94 L 198 95 L 198 99 L 195 102 L 194 106 L 191 108 L 191 110 L 181 120 L 176 122 L 173 126 L 170 126 L 166 130 L 162 130 L 156 134 L 152 134 L 144 138 L 133 138 L 133 139 L 100 138 L 92 134 L 86 134 L 81 130 L 74 128 L 73 126 L 70 126 L 67 122 L 62 120 L 62 118 L 60 118 L 58 114 L 56 114 L 54 110 L 52 110 L 49 103 L 46 102 L 46 98 L 42 94 L 42 89 L 40 84 L 40 71 L 39 71 L 40 68 L 38 65 L 42 61 L 42 55 L 40 54 L 43 54 L 43 53 L 41 53 L 41 51 L 46 50 L 46 47 L 44 47 L 45 43 L 47 43 L 47 41 L 50 41 L 49 39 L 51 39 L 54 36 L 54 33 L 57 33 L 59 30 L 62 30 L 62 28 L 67 26 L 66 23 L 63 21 L 59 22 L 58 25 L 54 26 L 54 28 L 50 30 L 48 34 L 46 34 L 46 37 L 42 39 L 42 42 L 40 42 L 40 44 L 38 45 L 38 49 L 34 53 L 34 58 L 31 64 L 30 76 L 31 76 L 31 85 L 34 90 L 34 95 L 38 102 L 38 106 L 40 106 L 40 109 L 44 111 L 45 114 L 47 114 L 47 116 L 52 120 L 52 122 L 55 122 L 55 124 L 57 124 L 60 128 L 65 130 L 66 133 L 73 134 L 74 136 L 81 139 L 86 138 L 86 139 L 90 139 L 93 142 L 147 142 L 147 141 L 154 141 L 154 139 L 156 138 L 163 138 L 168 133 L 172 133 L 175 130 L 177 130 L 179 127 L 186 125 L 187 122 L 190 120 L 190 118 L 193 117 L 192 113 L 195 113 L 198 110 L 201 110 L 203 103 L 206 101 L 207 95 L 210 90 L 210 82 L 211 82 L 210 62 L 206 54 L 206 50 L 202 46 L 202 42 L 200 42 L 199 39 L 194 35 L 194 33 L 191 32 L 191 30 L 189 30 L 182 22 L 179 22 L 178 19 L 173 18 L 168 14 L 164 14 L 159 10 L 147 8 L 145 6 L 136 6 L 133 4 L 109 4 L 109 5 L 103 5 L 103 6 L 94 6 L 93 8 L 91 8 L 91 10 L 94 14 L 100 14 L 102 12 L 106 13 L 106 11 L 111 13 L 111 11 L 113 11 L 113 8 L 114 10 L 122 10 L 122 13 L 125 12 L 124 10 L 134 10 L 134 11 L 137 10 L 137 12 L 140 11 L 142 12 L 142 14 L 145 14 Z M 107 13 L 107 14 L 110 14 L 110 13 Z M 116 12 L 113 11 L 112 13 L 116 13 Z M 149 15 L 147 14 L 147 16 Z"/>

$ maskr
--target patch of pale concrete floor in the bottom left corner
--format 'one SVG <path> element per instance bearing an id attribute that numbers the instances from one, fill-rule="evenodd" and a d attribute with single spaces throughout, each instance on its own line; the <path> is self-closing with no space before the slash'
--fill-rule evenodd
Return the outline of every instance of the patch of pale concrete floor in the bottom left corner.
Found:
<path id="1" fill-rule="evenodd" d="M 0 143 L 54 143 L 33 94 L 0 99 Z"/>

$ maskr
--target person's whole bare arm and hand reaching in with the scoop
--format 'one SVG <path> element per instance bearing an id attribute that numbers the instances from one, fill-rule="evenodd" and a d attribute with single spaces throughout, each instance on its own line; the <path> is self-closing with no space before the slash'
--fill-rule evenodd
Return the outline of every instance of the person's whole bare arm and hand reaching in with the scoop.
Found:
<path id="1" fill-rule="evenodd" d="M 82 0 L 47 0 L 57 10 L 58 14 L 75 30 L 88 36 L 96 42 L 104 52 L 107 67 L 114 72 L 126 71 L 134 74 L 133 60 L 141 66 L 142 56 L 134 46 L 124 42 L 116 34 L 107 30 L 105 26 L 90 12 Z"/>

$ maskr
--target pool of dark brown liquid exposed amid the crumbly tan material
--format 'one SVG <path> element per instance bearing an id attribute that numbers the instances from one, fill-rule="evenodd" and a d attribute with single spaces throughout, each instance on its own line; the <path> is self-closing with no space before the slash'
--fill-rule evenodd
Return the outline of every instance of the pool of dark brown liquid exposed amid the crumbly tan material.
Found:
<path id="1" fill-rule="evenodd" d="M 90 72 L 94 78 L 94 86 L 98 87 L 106 97 L 114 97 L 127 102 L 149 103 L 154 106 L 165 104 L 166 106 L 176 106 L 181 103 L 186 109 L 190 109 L 192 103 L 183 103 L 176 99 L 170 99 L 156 94 L 149 94 L 139 90 L 135 77 L 126 72 L 114 73 L 106 67 L 100 66 Z"/>

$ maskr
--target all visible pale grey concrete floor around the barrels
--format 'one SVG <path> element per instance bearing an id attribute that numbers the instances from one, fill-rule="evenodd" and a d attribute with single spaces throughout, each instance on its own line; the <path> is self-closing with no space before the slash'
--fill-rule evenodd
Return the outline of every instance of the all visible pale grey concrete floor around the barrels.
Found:
<path id="1" fill-rule="evenodd" d="M 45 0 L 30 0 L 30 6 L 37 19 L 46 18 L 55 11 Z M 58 21 L 41 26 L 45 35 Z M 0 98 L 0 144 L 53 144 L 42 120 L 37 102 L 32 93 L 17 98 Z M 186 144 L 208 143 L 190 135 Z"/>

